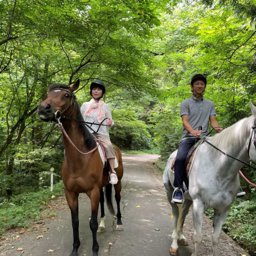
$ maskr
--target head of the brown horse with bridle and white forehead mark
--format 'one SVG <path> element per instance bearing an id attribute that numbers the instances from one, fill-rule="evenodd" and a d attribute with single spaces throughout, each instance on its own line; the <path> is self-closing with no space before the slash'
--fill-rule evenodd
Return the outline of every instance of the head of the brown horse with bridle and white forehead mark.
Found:
<path id="1" fill-rule="evenodd" d="M 69 87 L 64 84 L 50 84 L 47 98 L 38 106 L 38 114 L 41 120 L 55 121 L 65 114 L 71 116 L 75 108 L 74 91 L 79 87 L 79 79 Z"/>

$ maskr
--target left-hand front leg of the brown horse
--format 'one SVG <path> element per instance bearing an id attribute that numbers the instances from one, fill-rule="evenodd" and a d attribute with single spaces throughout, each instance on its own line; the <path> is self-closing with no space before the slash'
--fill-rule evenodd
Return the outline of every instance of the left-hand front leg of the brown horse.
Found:
<path id="1" fill-rule="evenodd" d="M 77 256 L 77 250 L 80 246 L 79 240 L 79 219 L 78 219 L 78 194 L 65 189 L 66 200 L 71 212 L 72 228 L 73 228 L 73 250 L 70 256 Z"/>

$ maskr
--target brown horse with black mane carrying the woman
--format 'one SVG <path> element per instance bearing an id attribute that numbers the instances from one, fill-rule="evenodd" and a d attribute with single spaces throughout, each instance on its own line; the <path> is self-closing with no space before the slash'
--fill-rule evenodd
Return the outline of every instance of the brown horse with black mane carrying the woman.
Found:
<path id="1" fill-rule="evenodd" d="M 38 106 L 38 114 L 43 121 L 58 122 L 62 129 L 65 157 L 62 164 L 62 180 L 65 185 L 65 194 L 71 212 L 73 227 L 73 250 L 70 256 L 77 256 L 80 246 L 79 220 L 78 220 L 78 195 L 86 193 L 91 202 L 90 229 L 92 230 L 92 254 L 98 255 L 99 246 L 96 239 L 96 232 L 103 232 L 105 225 L 104 214 L 104 192 L 105 186 L 106 201 L 108 209 L 114 215 L 112 205 L 112 184 L 109 183 L 109 167 L 104 164 L 97 150 L 97 143 L 92 134 L 88 131 L 80 112 L 80 107 L 75 100 L 74 91 L 79 87 L 77 80 L 71 87 L 63 84 L 51 84 L 50 92 Z M 81 121 L 81 122 L 79 122 Z M 118 231 L 123 230 L 120 212 L 121 179 L 123 176 L 122 156 L 119 148 L 114 146 L 118 168 L 116 173 L 118 183 L 114 185 L 115 199 L 117 204 L 117 225 Z M 98 228 L 98 208 L 101 207 L 101 222 Z M 97 230 L 98 228 L 98 230 Z"/>

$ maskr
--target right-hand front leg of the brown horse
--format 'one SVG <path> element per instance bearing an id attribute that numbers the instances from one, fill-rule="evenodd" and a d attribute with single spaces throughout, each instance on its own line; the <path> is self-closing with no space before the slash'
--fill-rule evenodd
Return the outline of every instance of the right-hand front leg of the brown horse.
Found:
<path id="1" fill-rule="evenodd" d="M 92 191 L 88 192 L 88 196 L 91 200 L 91 219 L 90 219 L 90 229 L 92 231 L 92 256 L 98 256 L 99 245 L 97 242 L 97 229 L 98 229 L 98 209 L 100 203 L 100 190 L 99 188 L 94 188 Z"/>

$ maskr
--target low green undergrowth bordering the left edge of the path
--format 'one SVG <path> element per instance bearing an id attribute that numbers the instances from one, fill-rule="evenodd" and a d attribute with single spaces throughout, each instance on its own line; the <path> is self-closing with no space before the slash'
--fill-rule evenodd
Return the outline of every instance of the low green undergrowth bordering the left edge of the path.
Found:
<path id="1" fill-rule="evenodd" d="M 39 220 L 40 210 L 52 200 L 52 195 L 60 196 L 63 192 L 61 181 L 54 185 L 52 192 L 47 188 L 0 200 L 0 234 L 10 228 L 26 228 L 30 222 Z"/>

